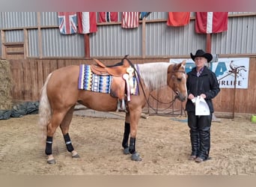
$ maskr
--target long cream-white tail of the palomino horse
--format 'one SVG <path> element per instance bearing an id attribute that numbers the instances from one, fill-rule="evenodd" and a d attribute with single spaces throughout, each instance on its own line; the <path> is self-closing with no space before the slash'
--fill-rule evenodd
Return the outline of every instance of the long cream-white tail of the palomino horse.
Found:
<path id="1" fill-rule="evenodd" d="M 40 97 L 40 104 L 39 104 L 38 125 L 40 127 L 40 132 L 42 133 L 41 135 L 42 135 L 43 144 L 46 141 L 47 124 L 49 123 L 49 120 L 52 114 L 51 106 L 49 104 L 49 99 L 46 92 L 47 84 L 51 76 L 52 76 L 52 73 L 50 73 L 49 76 L 47 76 L 46 78 L 46 82 L 44 83 L 43 88 L 41 90 L 41 97 Z"/>

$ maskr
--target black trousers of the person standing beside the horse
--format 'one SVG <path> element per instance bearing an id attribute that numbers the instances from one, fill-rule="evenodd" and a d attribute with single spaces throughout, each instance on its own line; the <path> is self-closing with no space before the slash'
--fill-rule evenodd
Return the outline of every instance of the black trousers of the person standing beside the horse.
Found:
<path id="1" fill-rule="evenodd" d="M 188 112 L 188 125 L 193 156 L 208 159 L 210 152 L 210 126 L 213 114 L 209 116 L 195 116 L 195 112 Z"/>

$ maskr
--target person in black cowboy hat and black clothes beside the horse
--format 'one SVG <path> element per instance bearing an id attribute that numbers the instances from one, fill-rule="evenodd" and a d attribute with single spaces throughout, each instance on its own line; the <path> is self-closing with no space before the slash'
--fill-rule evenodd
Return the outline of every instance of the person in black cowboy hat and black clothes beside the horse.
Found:
<path id="1" fill-rule="evenodd" d="M 209 159 L 210 152 L 210 126 L 213 116 L 212 99 L 219 93 L 219 83 L 213 73 L 206 66 L 213 59 L 213 55 L 198 49 L 195 55 L 190 53 L 195 67 L 187 73 L 188 78 L 186 87 L 188 90 L 188 99 L 186 102 L 186 111 L 188 114 L 188 125 L 192 153 L 189 160 L 203 162 Z M 210 115 L 195 115 L 195 97 L 200 96 L 205 99 L 210 109 Z"/>

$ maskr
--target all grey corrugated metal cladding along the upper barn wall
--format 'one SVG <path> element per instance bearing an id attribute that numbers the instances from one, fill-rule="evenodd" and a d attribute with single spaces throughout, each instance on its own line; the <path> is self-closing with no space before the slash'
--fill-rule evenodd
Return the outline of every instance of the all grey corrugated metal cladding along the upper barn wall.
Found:
<path id="1" fill-rule="evenodd" d="M 37 29 L 38 14 L 36 12 L 1 12 L 0 29 L 5 29 L 4 42 L 23 42 L 25 40 L 23 28 L 25 28 L 28 30 L 28 57 L 38 58 L 40 47 L 43 58 L 85 56 L 83 34 L 60 34 L 57 12 L 42 12 L 39 15 L 41 34 Z M 206 49 L 206 35 L 195 33 L 195 19 L 191 19 L 186 26 L 169 27 L 164 20 L 167 16 L 166 12 L 152 12 L 147 17 L 150 22 L 146 22 L 145 55 L 175 57 L 189 55 L 196 49 Z M 192 12 L 191 16 L 195 17 L 195 13 Z M 121 13 L 118 19 L 121 21 Z M 159 22 L 153 22 L 153 20 L 159 20 Z M 256 16 L 229 17 L 228 31 L 212 34 L 212 53 L 255 54 L 255 36 Z M 115 57 L 127 54 L 141 57 L 141 48 L 141 24 L 133 29 L 121 28 L 121 24 L 98 25 L 97 33 L 90 34 L 91 57 Z"/>

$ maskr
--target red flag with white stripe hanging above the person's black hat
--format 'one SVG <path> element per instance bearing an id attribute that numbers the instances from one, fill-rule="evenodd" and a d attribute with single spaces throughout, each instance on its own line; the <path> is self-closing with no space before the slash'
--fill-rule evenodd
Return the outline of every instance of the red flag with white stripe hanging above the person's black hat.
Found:
<path id="1" fill-rule="evenodd" d="M 228 12 L 197 12 L 195 31 L 197 33 L 219 33 L 228 30 Z"/>

